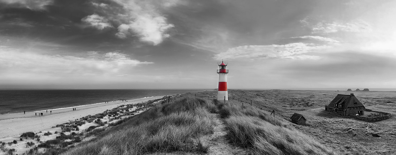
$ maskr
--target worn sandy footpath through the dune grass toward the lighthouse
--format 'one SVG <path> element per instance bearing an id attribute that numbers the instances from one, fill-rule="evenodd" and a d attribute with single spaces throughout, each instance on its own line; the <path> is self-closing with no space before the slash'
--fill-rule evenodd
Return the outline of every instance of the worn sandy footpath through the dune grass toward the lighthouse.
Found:
<path id="1" fill-rule="evenodd" d="M 202 137 L 204 144 L 209 145 L 208 155 L 243 155 L 246 150 L 234 147 L 228 143 L 225 124 L 219 114 L 212 114 L 215 118 L 213 134 Z"/>

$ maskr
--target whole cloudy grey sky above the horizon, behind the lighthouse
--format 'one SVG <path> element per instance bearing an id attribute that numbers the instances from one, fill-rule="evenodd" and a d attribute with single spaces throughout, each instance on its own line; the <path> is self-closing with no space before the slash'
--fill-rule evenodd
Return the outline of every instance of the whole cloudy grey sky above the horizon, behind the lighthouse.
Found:
<path id="1" fill-rule="evenodd" d="M 0 89 L 396 88 L 394 0 L 0 0 Z"/>

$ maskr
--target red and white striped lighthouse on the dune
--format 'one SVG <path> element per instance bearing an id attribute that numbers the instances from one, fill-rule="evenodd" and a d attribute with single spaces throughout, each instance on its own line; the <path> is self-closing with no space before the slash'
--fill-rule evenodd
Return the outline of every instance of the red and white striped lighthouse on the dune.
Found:
<path id="1" fill-rule="evenodd" d="M 219 90 L 217 92 L 217 100 L 228 100 L 228 92 L 227 92 L 227 65 L 221 61 L 219 65 L 219 69 L 217 69 L 217 73 L 219 74 Z"/>

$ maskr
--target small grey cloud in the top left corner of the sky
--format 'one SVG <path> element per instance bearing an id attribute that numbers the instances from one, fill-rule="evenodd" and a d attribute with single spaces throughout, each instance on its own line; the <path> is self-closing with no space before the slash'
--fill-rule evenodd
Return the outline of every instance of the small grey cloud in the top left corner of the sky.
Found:
<path id="1" fill-rule="evenodd" d="M 30 10 L 45 10 L 46 6 L 51 5 L 53 0 L 0 0 L 6 4 L 19 4 L 20 7 Z"/>

